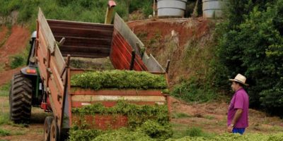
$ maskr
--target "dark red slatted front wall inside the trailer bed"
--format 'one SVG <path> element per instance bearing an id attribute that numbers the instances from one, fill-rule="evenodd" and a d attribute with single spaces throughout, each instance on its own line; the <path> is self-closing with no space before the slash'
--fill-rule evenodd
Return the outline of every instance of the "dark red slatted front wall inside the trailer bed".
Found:
<path id="1" fill-rule="evenodd" d="M 83 23 L 66 20 L 47 20 L 59 42 L 66 39 L 59 49 L 63 56 L 104 58 L 109 56 L 113 25 Z"/>

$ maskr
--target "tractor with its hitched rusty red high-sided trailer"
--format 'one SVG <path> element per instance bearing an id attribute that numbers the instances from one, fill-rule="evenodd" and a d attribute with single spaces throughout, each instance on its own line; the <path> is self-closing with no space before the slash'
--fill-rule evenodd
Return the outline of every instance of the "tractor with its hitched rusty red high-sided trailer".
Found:
<path id="1" fill-rule="evenodd" d="M 143 51 L 144 44 L 117 14 L 113 25 L 83 23 L 46 19 L 39 8 L 37 30 L 30 44 L 27 66 L 13 75 L 11 120 L 28 123 L 32 106 L 52 112 L 53 116 L 45 118 L 45 140 L 66 139 L 76 121 L 71 109 L 97 102 L 105 106 L 114 106 L 120 99 L 134 104 L 167 104 L 170 111 L 169 96 L 161 90 L 73 89 L 71 77 L 89 70 L 71 68 L 71 57 L 109 57 L 115 69 L 164 75 L 168 82 L 168 66 L 164 69 L 154 56 Z M 117 122 L 103 116 L 91 120 L 96 121 L 96 128 L 105 129 L 106 123 L 119 128 L 127 117 L 117 117 Z"/>

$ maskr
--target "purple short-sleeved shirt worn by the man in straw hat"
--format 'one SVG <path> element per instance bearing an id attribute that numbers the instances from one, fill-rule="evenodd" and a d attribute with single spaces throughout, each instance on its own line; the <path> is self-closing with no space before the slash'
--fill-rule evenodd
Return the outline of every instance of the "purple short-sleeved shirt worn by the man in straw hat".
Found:
<path id="1" fill-rule="evenodd" d="M 237 109 L 243 109 L 243 113 L 234 125 L 234 128 L 248 127 L 248 94 L 243 88 L 237 90 L 231 99 L 228 109 L 227 125 L 230 125 Z"/>

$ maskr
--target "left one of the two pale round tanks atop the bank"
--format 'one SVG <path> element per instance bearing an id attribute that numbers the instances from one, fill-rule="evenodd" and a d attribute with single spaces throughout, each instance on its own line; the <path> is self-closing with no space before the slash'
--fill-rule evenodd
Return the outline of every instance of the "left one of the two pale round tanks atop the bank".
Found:
<path id="1" fill-rule="evenodd" d="M 157 0 L 158 17 L 183 17 L 187 0 Z"/>

